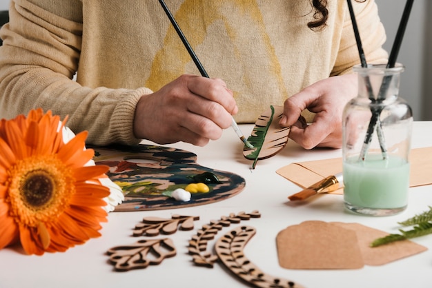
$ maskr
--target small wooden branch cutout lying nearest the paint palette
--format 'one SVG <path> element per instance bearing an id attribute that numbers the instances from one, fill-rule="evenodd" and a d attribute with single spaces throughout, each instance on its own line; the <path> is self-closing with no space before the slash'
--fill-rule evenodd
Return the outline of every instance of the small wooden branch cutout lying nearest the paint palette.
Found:
<path id="1" fill-rule="evenodd" d="M 199 216 L 180 216 L 173 215 L 171 219 L 159 217 L 144 217 L 142 222 L 135 225 L 133 236 L 157 236 L 162 234 L 173 234 L 177 232 L 177 227 L 181 230 L 193 229 L 193 221 L 199 220 Z"/>

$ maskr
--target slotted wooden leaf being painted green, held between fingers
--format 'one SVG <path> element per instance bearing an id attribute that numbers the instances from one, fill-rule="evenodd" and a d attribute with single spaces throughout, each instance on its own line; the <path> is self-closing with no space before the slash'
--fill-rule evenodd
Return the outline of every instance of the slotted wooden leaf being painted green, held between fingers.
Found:
<path id="1" fill-rule="evenodd" d="M 288 142 L 290 127 L 279 125 L 283 112 L 282 106 L 270 106 L 270 110 L 264 112 L 255 122 L 252 134 L 248 138 L 253 148 L 245 146 L 243 149 L 244 157 L 253 160 L 253 169 L 258 160 L 274 156 Z"/>

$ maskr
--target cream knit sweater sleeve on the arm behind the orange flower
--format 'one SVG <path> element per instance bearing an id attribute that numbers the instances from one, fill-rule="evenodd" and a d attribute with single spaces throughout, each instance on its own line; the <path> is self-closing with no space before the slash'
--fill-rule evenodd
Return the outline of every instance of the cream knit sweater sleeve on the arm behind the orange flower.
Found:
<path id="1" fill-rule="evenodd" d="M 0 31 L 0 117 L 11 119 L 42 107 L 61 119 L 68 115 L 67 125 L 75 133 L 88 130 L 88 143 L 138 143 L 132 128 L 135 106 L 151 91 L 87 88 L 73 81 L 81 51 L 82 3 L 61 1 L 53 8 L 52 1 L 46 2 L 11 2 L 10 23 Z"/>

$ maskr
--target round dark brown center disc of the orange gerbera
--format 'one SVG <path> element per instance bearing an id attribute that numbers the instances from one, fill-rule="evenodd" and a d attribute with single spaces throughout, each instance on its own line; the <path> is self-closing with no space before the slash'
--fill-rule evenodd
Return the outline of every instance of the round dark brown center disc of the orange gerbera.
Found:
<path id="1" fill-rule="evenodd" d="M 52 198 L 54 183 L 46 171 L 33 171 L 26 175 L 21 186 L 24 202 L 30 207 L 43 207 Z"/>

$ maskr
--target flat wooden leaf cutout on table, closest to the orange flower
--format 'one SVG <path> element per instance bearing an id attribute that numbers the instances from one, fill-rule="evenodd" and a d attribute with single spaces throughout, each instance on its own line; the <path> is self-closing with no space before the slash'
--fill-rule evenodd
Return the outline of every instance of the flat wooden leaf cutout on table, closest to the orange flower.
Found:
<path id="1" fill-rule="evenodd" d="M 177 253 L 173 241 L 169 238 L 139 240 L 126 246 L 112 247 L 107 251 L 117 271 L 146 268 L 148 265 L 158 265 L 168 257 Z"/>

